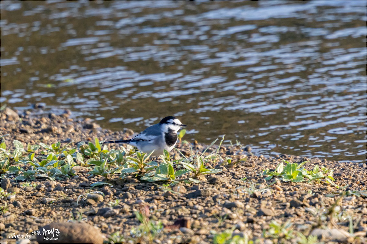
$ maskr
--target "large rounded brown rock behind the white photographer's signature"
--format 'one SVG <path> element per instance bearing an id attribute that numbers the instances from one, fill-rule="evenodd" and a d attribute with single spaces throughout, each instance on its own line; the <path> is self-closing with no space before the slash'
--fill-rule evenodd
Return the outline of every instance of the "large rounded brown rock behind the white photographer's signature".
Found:
<path id="1" fill-rule="evenodd" d="M 54 234 L 48 234 L 46 232 L 47 238 L 58 238 L 57 240 L 52 240 L 52 243 L 103 243 L 104 239 L 100 229 L 86 223 L 52 222 L 51 224 L 39 228 L 41 232 L 43 229 L 58 229 L 59 236 L 54 236 Z M 50 243 L 50 240 L 47 240 L 47 238 L 44 240 L 44 237 L 43 234 L 37 235 L 37 242 Z"/>

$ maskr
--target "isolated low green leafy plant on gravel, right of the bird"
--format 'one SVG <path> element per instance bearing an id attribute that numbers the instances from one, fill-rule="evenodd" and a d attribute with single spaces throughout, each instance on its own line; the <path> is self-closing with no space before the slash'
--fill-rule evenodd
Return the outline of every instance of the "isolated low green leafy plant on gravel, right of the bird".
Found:
<path id="1" fill-rule="evenodd" d="M 333 170 L 327 169 L 324 166 L 319 167 L 315 165 L 312 170 L 307 170 L 304 165 L 309 161 L 304 161 L 301 164 L 291 163 L 283 160 L 274 171 L 270 169 L 264 170 L 263 175 L 268 177 L 265 180 L 270 180 L 273 177 L 279 177 L 282 181 L 302 182 L 302 181 L 317 181 L 324 180 L 327 183 L 335 185 L 333 183 Z M 284 163 L 286 165 L 284 166 Z M 336 186 L 336 185 L 335 185 Z"/>

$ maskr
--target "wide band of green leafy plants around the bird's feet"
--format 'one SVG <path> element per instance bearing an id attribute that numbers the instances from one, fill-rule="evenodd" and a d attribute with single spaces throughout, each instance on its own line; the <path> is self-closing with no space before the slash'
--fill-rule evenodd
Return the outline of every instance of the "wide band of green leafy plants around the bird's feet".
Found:
<path id="1" fill-rule="evenodd" d="M 184 134 L 184 132 L 180 134 L 181 138 Z M 14 140 L 13 144 L 15 147 L 13 151 L 6 149 L 5 142 L 0 144 L 1 173 L 15 175 L 15 179 L 18 181 L 36 178 L 55 180 L 72 177 L 75 176 L 73 167 L 76 165 L 90 167 L 92 170 L 88 173 L 91 176 L 105 178 L 106 181 L 98 181 L 93 183 L 91 187 L 110 184 L 108 181 L 116 174 L 120 179 L 132 176 L 150 182 L 165 181 L 175 184 L 179 181 L 200 183 L 197 180 L 198 176 L 221 171 L 220 169 L 208 168 L 207 165 L 212 165 L 220 158 L 218 150 L 204 156 L 209 147 L 203 153 L 197 152 L 191 157 L 183 156 L 178 160 L 172 160 L 170 154 L 165 151 L 161 157 L 163 162 L 159 164 L 150 160 L 150 155 L 153 152 L 150 154 L 142 153 L 132 150 L 132 147 L 108 150 L 106 145 L 101 147 L 98 138 L 95 138 L 95 143 L 80 142 L 76 148 L 71 147 L 71 143 L 62 146 L 61 142 L 57 142 L 51 146 L 44 143 L 28 144 L 25 150 L 22 142 Z M 38 151 L 39 149 L 42 150 Z"/>

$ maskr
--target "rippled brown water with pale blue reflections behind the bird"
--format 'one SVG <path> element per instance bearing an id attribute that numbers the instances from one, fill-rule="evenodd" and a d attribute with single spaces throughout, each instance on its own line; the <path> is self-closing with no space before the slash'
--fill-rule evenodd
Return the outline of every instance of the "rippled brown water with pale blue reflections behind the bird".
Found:
<path id="1" fill-rule="evenodd" d="M 366 160 L 366 1 L 3 1 L 2 104 Z"/>

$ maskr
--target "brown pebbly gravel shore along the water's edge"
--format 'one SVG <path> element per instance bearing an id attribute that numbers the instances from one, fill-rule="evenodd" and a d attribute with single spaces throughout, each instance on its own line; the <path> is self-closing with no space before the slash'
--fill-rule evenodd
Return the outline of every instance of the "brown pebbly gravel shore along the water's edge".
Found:
<path id="1" fill-rule="evenodd" d="M 76 146 L 82 140 L 94 142 L 95 137 L 100 141 L 125 140 L 134 134 L 130 129 L 100 128 L 90 119 L 71 119 L 68 111 L 62 115 L 40 116 L 29 111 L 18 115 L 6 108 L 0 119 L 1 136 L 7 150 L 13 150 L 14 139 L 23 142 L 24 146 L 58 141 Z M 195 151 L 205 148 L 206 145 L 200 143 L 193 145 Z M 184 155 L 190 154 L 188 145 L 182 144 L 178 150 Z M 12 234 L 13 237 L 28 234 L 30 243 L 42 242 L 37 238 L 44 236 L 32 232 L 52 222 L 68 222 L 59 224 L 60 232 L 73 229 L 75 233 L 84 233 L 85 238 L 91 238 L 87 240 L 90 243 L 109 243 L 115 232 L 120 233 L 123 242 L 143 241 L 132 236 L 130 230 L 140 224 L 134 211 L 149 208 L 150 220 L 161 221 L 164 225 L 152 239 L 154 243 L 212 243 L 215 233 L 226 230 L 233 232 L 232 236 L 246 237 L 255 243 L 302 242 L 297 233 L 312 234 L 318 238 L 317 242 L 366 243 L 366 198 L 354 194 L 366 190 L 365 163 L 292 155 L 257 157 L 247 155 L 242 146 L 228 145 L 221 146 L 219 153 L 237 163 L 219 162 L 213 166 L 222 172 L 201 177 L 200 184 L 181 182 L 170 190 L 161 183 L 146 183 L 136 178 L 91 188 L 92 183 L 103 177 L 91 177 L 88 174 L 91 168 L 85 166 L 74 167 L 76 176 L 54 181 L 36 178 L 17 182 L 14 176 L 2 174 L 1 188 L 10 195 L 1 199 L 7 211 L 1 212 L 0 242 L 20 241 L 21 238 L 8 238 Z M 171 155 L 179 157 L 178 153 Z M 239 161 L 244 157 L 246 161 Z M 334 183 L 341 188 L 348 187 L 338 189 L 327 183 L 266 181 L 262 172 L 275 169 L 282 160 L 297 163 L 310 160 L 305 165 L 309 170 L 315 165 L 333 169 Z M 104 196 L 87 195 L 93 191 L 101 191 Z M 272 221 L 279 224 L 289 221 L 292 225 L 283 227 L 293 234 L 289 238 L 284 233 L 269 234 Z M 52 224 L 48 228 L 50 226 L 52 228 Z M 76 240 L 72 236 L 64 238 Z M 83 236 L 78 238 L 82 238 L 77 239 L 80 242 L 85 241 Z M 22 241 L 26 243 L 28 239 Z"/>

